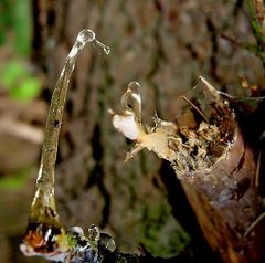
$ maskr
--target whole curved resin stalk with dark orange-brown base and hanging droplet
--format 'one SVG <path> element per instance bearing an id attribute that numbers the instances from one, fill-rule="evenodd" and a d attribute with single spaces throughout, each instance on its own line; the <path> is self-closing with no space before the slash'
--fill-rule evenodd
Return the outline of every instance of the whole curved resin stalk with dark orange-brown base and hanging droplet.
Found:
<path id="1" fill-rule="evenodd" d="M 85 29 L 81 31 L 65 60 L 64 67 L 53 92 L 46 120 L 35 196 L 31 204 L 28 229 L 20 246 L 21 251 L 28 256 L 42 255 L 50 260 L 64 261 L 71 253 L 71 239 L 66 236 L 55 207 L 54 168 L 68 83 L 80 52 L 86 43 L 92 41 L 99 44 L 105 53 L 109 53 L 109 48 L 97 41 L 92 30 Z"/>

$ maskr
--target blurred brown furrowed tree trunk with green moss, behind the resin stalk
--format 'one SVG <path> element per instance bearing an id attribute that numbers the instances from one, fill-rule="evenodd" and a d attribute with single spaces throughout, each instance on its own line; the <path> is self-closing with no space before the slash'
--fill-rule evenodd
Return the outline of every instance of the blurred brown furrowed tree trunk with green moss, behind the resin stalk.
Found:
<path id="1" fill-rule="evenodd" d="M 241 87 L 240 77 L 264 88 L 259 60 L 226 40 L 230 38 L 221 38 L 223 34 L 243 42 L 255 41 L 246 8 L 242 1 L 213 0 L 178 1 L 178 4 L 151 0 L 32 2 L 33 60 L 46 77 L 43 92 L 46 102 L 50 102 L 63 61 L 81 29 L 93 29 L 98 39 L 112 48 L 108 57 L 96 46 L 84 51 L 70 88 L 56 178 L 62 221 L 65 225 L 77 224 L 84 229 L 95 223 L 110 233 L 124 251 L 136 250 L 142 242 L 159 256 L 177 254 L 182 250 L 178 248 L 179 240 L 188 238 L 173 220 L 166 197 L 168 194 L 170 203 L 178 207 L 177 202 L 184 197 L 172 192 L 171 187 L 172 181 L 176 188 L 179 185 L 174 179 L 166 178 L 170 171 L 165 175 L 167 169 L 161 168 L 157 157 L 145 151 L 124 164 L 123 149 L 129 146 L 112 127 L 107 109 L 115 108 L 132 80 L 144 86 L 145 119 L 150 119 L 155 108 L 160 117 L 173 119 L 179 113 L 177 96 L 192 87 L 201 74 L 209 76 L 214 86 L 235 95 L 250 93 Z M 245 158 L 250 157 L 250 164 L 253 162 L 248 148 L 241 152 L 245 152 Z M 190 187 L 184 186 L 188 192 Z M 24 200 L 28 197 L 26 203 L 30 203 L 30 191 L 26 189 L 26 192 L 18 197 Z M 193 207 L 198 206 L 198 198 L 204 203 L 201 193 L 192 192 L 194 196 L 188 198 Z M 172 200 L 172 197 L 177 199 Z M 10 199 L 14 199 L 13 194 Z M 12 203 L 20 206 L 18 199 Z M 182 202 L 179 203 L 181 207 Z M 201 251 L 206 251 L 203 238 L 198 228 L 180 217 L 183 210 L 178 207 L 174 215 L 188 225 L 194 240 L 199 240 L 193 249 L 200 256 Z M 17 250 L 18 242 L 13 240 L 18 239 L 18 232 L 23 232 L 28 211 L 29 206 L 20 218 L 23 221 L 24 217 L 23 225 L 20 223 L 17 231 L 1 233 L 4 236 L 1 248 L 12 243 Z M 197 215 L 202 222 L 204 214 L 197 212 Z M 7 221 L 12 217 L 9 215 Z M 192 218 L 192 212 L 188 217 Z M 250 217 L 255 218 L 254 214 Z M 203 232 L 206 234 L 209 230 L 203 229 Z M 25 262 L 24 257 L 12 255 L 12 249 L 4 251 L 8 252 L 1 255 L 3 261 Z M 209 253 L 201 256 L 210 259 Z"/>

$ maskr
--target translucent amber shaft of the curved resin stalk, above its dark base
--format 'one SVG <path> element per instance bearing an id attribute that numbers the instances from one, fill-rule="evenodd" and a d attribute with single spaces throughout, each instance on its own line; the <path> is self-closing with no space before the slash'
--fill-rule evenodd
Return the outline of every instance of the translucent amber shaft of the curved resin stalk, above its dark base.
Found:
<path id="1" fill-rule="evenodd" d="M 83 50 L 87 42 L 92 42 L 94 39 L 95 33 L 91 30 L 83 30 L 78 34 L 70 54 L 66 57 L 64 67 L 54 88 L 45 127 L 41 165 L 36 179 L 36 192 L 32 202 L 30 221 L 42 221 L 43 219 L 49 219 L 51 211 L 46 211 L 46 208 L 55 211 L 54 167 L 67 87 L 78 53 Z M 53 214 L 53 220 L 56 217 L 57 214 Z"/>

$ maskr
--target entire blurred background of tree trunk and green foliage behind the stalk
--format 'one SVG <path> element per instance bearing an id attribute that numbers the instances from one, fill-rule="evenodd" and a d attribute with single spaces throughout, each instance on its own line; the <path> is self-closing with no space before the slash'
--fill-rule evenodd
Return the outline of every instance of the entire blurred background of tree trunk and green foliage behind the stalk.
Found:
<path id="1" fill-rule="evenodd" d="M 119 109 L 130 81 L 142 86 L 148 124 L 155 111 L 163 119 L 180 118 L 179 96 L 199 75 L 235 96 L 262 93 L 264 66 L 250 49 L 256 40 L 244 0 L 0 1 L 0 262 L 45 262 L 24 257 L 19 243 L 51 94 L 84 28 L 112 52 L 86 48 L 71 82 L 56 169 L 61 219 L 66 228 L 95 223 L 123 251 L 136 252 L 142 243 L 153 255 L 199 259 L 200 233 L 188 223 L 192 212 L 182 208 L 181 189 L 169 194 L 165 181 L 172 171 L 146 150 L 124 164 L 131 146 L 107 111 Z M 172 211 L 171 202 L 180 210 Z"/>

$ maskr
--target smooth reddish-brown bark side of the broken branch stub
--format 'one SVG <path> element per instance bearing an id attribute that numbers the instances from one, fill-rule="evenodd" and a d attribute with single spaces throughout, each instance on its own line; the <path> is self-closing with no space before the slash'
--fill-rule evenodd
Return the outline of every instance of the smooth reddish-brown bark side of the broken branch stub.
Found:
<path id="1" fill-rule="evenodd" d="M 210 172 L 191 171 L 180 180 L 209 244 L 224 262 L 263 262 L 265 220 L 261 167 L 233 114 L 227 111 L 219 114 L 214 118 L 220 118 L 219 130 L 223 129 L 224 140 L 231 141 L 229 151 Z M 221 141 L 214 144 L 221 145 Z M 209 150 L 208 154 L 215 152 Z"/>

